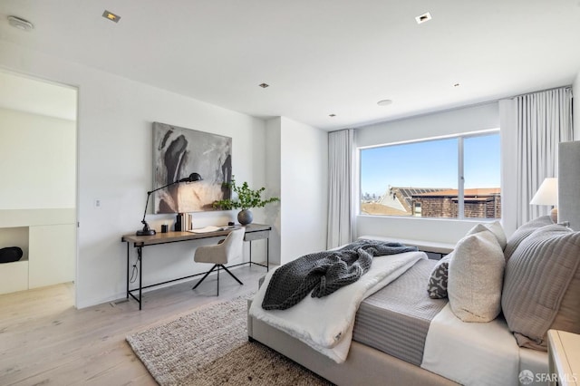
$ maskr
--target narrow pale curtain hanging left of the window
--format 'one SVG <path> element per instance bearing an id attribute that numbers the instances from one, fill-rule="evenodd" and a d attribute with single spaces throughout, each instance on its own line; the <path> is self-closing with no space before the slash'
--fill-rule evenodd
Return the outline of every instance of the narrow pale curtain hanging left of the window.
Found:
<path id="1" fill-rule="evenodd" d="M 353 142 L 352 129 L 328 133 L 328 248 L 353 239 Z"/>

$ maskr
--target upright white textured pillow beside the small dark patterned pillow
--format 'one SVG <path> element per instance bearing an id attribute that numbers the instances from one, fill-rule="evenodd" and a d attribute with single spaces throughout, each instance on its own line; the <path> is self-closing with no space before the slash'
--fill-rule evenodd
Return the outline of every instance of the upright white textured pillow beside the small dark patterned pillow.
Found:
<path id="1" fill-rule="evenodd" d="M 451 311 L 463 322 L 490 322 L 501 311 L 504 258 L 489 230 L 463 237 L 449 261 Z"/>

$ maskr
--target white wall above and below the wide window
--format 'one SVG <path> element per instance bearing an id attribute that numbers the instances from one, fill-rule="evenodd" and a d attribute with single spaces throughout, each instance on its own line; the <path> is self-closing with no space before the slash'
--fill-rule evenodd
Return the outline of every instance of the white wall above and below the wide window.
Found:
<path id="1" fill-rule="evenodd" d="M 365 147 L 498 127 L 498 103 L 490 102 L 363 127 L 356 130 L 356 144 Z M 502 167 L 505 169 L 505 165 Z M 357 216 L 356 236 L 377 235 L 456 243 L 473 225 L 473 220 Z"/>

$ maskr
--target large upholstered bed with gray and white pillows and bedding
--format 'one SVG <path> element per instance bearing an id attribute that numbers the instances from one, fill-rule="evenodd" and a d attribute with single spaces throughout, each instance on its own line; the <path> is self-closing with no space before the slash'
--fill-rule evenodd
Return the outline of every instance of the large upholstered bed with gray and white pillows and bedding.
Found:
<path id="1" fill-rule="evenodd" d="M 292 308 L 259 310 L 274 272 L 248 302 L 248 337 L 338 385 L 516 386 L 524 370 L 548 372 L 548 329 L 580 333 L 580 232 L 553 224 L 547 216 L 520 227 L 509 239 L 498 222 L 478 224 L 439 261 L 421 252 L 405 254 L 418 255 L 355 304 L 352 342 L 344 343 L 349 349 L 343 361 L 304 339 L 304 327 L 295 333 L 286 322 L 272 320 L 299 321 L 304 314 Z M 443 268 L 448 276 L 444 295 L 438 294 Z M 327 297 L 340 297 L 350 286 Z M 319 308 L 319 300 L 303 302 Z"/>

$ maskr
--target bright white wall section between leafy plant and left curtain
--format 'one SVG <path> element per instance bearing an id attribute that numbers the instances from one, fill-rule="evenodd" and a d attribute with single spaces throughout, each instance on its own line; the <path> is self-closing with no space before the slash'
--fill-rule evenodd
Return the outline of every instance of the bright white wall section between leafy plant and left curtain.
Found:
<path id="1" fill-rule="evenodd" d="M 279 172 L 280 264 L 325 249 L 328 207 L 328 133 L 285 117 L 267 122 L 268 154 Z"/>

